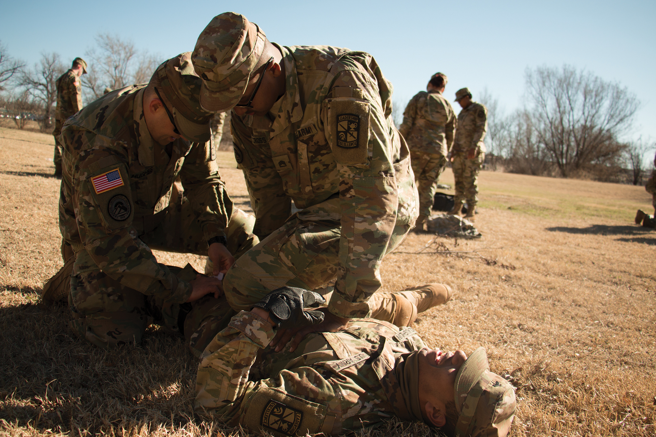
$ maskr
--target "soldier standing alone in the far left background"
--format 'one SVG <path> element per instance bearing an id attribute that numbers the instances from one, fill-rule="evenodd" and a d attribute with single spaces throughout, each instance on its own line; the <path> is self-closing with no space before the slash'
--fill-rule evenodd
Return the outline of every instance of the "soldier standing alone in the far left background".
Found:
<path id="1" fill-rule="evenodd" d="M 87 63 L 82 58 L 75 58 L 71 68 L 57 79 L 57 107 L 54 111 L 54 176 L 62 177 L 62 144 L 59 136 L 62 124 L 74 113 L 82 109 L 82 86 L 80 77 L 87 73 Z"/>

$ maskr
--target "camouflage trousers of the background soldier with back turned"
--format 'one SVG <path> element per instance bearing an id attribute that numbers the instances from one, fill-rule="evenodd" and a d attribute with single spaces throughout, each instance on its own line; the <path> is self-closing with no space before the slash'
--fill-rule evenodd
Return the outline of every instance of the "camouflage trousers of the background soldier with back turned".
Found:
<path id="1" fill-rule="evenodd" d="M 415 173 L 417 191 L 419 191 L 419 214 L 430 216 L 433 208 L 433 196 L 438 186 L 440 174 L 447 164 L 441 153 L 410 151 L 412 171 Z"/>

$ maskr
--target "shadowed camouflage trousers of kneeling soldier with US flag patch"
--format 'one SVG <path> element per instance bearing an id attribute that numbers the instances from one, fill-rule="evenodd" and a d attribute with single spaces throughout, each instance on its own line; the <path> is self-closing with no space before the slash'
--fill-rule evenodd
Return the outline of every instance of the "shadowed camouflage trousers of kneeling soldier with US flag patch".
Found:
<path id="1" fill-rule="evenodd" d="M 241 256 L 258 243 L 258 238 L 253 235 L 253 225 L 253 216 L 237 208 L 233 210 L 226 236 L 228 250 L 234 257 Z M 152 249 L 207 256 L 207 241 L 186 198 L 178 204 L 169 205 L 159 224 L 139 238 Z M 81 250 L 76 256 L 89 255 Z M 169 270 L 187 281 L 195 279 L 197 274 L 191 265 L 184 269 L 169 267 Z M 199 354 L 202 349 L 194 346 L 197 342 L 194 339 L 207 336 L 196 331 L 213 329 L 212 323 L 205 318 L 223 320 L 227 317 L 230 320 L 232 316 L 227 315 L 230 305 L 219 302 L 213 296 L 205 296 L 194 303 L 167 303 L 160 297 L 144 295 L 121 284 L 100 269 L 72 275 L 70 287 L 68 302 L 73 311 L 70 322 L 73 332 L 103 348 L 138 343 L 146 327 L 154 323 L 170 332 L 184 333 L 192 352 Z"/>

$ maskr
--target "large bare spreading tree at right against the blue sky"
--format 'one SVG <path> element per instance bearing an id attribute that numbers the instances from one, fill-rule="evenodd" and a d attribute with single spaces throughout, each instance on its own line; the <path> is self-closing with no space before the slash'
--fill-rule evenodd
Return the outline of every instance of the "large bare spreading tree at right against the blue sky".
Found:
<path id="1" fill-rule="evenodd" d="M 640 105 L 634 94 L 566 65 L 527 69 L 525 77 L 537 138 L 562 176 L 617 161 L 626 147 L 618 138 Z"/>

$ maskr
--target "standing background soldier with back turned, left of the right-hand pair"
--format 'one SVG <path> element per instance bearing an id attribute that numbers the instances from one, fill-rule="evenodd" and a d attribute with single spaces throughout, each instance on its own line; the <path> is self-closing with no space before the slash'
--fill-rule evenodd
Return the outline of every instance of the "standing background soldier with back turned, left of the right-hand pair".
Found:
<path id="1" fill-rule="evenodd" d="M 455 112 L 442 96 L 447 81 L 445 74 L 435 73 L 426 85 L 426 91 L 418 92 L 408 102 L 399 128 L 410 148 L 419 191 L 419 218 L 415 229 L 423 229 L 424 222 L 430 217 L 438 180 L 453 145 Z"/>

